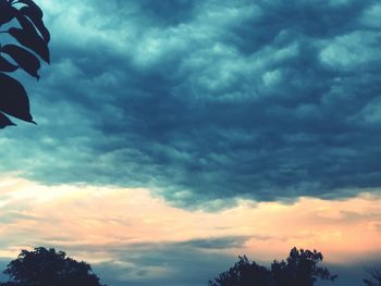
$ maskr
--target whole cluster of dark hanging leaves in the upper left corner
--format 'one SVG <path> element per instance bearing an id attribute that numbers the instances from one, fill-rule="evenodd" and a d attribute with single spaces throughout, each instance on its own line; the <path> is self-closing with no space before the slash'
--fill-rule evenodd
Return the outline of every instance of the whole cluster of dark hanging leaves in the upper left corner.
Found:
<path id="1" fill-rule="evenodd" d="M 0 0 L 0 33 L 14 41 L 0 43 L 0 128 L 15 125 L 5 114 L 35 123 L 25 88 L 9 73 L 21 69 L 38 79 L 40 59 L 50 63 L 50 34 L 42 16 L 33 0 Z M 4 26 L 8 29 L 3 29 Z"/>

